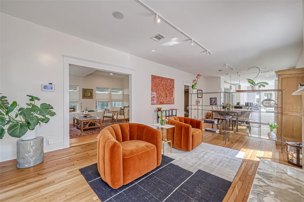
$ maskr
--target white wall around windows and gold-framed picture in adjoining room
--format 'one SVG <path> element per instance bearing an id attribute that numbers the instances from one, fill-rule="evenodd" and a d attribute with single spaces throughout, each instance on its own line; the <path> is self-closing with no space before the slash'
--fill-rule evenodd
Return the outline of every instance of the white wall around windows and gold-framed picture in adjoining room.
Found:
<path id="1" fill-rule="evenodd" d="M 69 79 L 70 79 L 69 80 L 70 85 L 79 86 L 78 111 L 80 111 L 81 103 L 82 103 L 82 110 L 85 110 L 86 107 L 88 107 L 88 110 L 96 109 L 96 91 L 95 91 L 96 87 L 119 88 L 119 89 L 127 88 L 126 92 L 125 91 L 123 92 L 124 97 L 122 101 L 124 101 L 123 102 L 124 106 L 129 105 L 129 78 L 124 79 L 124 78 L 116 78 L 111 76 L 102 76 L 98 74 L 89 74 L 88 76 L 70 75 Z M 83 88 L 93 89 L 93 99 L 82 99 Z M 72 102 L 74 100 L 70 99 L 70 101 Z"/>

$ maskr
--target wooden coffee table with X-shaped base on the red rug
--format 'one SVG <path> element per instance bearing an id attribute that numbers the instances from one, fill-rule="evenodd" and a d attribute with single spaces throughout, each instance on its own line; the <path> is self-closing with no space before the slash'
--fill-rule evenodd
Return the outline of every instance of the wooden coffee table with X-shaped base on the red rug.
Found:
<path id="1" fill-rule="evenodd" d="M 75 123 L 76 121 L 76 123 Z M 96 122 L 99 122 L 96 123 Z M 79 126 L 80 123 L 80 126 Z M 73 117 L 73 125 L 76 126 L 83 132 L 84 129 L 89 129 L 89 128 L 100 128 L 101 129 L 101 118 L 95 117 L 95 116 L 88 116 L 88 117 L 81 117 L 81 116 L 76 116 Z"/>

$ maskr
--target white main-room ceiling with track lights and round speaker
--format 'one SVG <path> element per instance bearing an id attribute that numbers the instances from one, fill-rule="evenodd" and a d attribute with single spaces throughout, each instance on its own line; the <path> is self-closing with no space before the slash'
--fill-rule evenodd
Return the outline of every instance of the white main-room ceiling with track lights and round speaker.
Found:
<path id="1" fill-rule="evenodd" d="M 190 45 L 166 23 L 156 23 L 153 14 L 131 0 L 2 0 L 1 12 L 193 74 L 224 76 L 225 81 L 230 81 L 226 73 L 233 72 L 224 63 L 242 75 L 252 66 L 268 71 L 287 69 L 296 65 L 303 49 L 301 0 L 144 3 L 213 55 Z M 125 18 L 113 18 L 116 10 Z M 150 39 L 158 33 L 166 38 L 159 42 Z M 218 69 L 223 71 L 216 72 Z M 238 83 L 238 76 L 232 79 Z"/>

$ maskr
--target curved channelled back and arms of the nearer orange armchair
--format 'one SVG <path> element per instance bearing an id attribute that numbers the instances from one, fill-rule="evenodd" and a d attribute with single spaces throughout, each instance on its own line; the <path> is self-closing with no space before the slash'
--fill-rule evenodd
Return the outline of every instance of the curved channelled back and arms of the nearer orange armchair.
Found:
<path id="1" fill-rule="evenodd" d="M 123 183 L 121 143 L 141 140 L 156 146 L 157 166 L 161 163 L 161 132 L 139 123 L 119 123 L 105 127 L 97 140 L 97 167 L 102 180 L 111 187 Z"/>

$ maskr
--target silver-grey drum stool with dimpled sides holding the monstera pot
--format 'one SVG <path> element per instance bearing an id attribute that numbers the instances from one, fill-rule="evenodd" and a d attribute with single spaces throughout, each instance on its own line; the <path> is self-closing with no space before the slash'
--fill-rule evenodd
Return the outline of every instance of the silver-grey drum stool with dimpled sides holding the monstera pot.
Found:
<path id="1" fill-rule="evenodd" d="M 43 156 L 43 136 L 33 140 L 17 140 L 17 168 L 36 166 L 43 162 Z"/>

